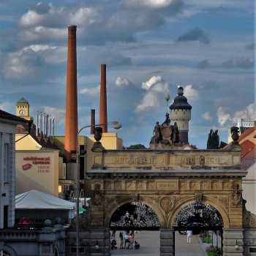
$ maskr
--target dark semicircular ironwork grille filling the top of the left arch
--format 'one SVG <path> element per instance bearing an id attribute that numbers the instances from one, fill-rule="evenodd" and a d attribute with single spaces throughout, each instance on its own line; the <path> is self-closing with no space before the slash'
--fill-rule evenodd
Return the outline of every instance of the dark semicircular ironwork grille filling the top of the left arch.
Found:
<path id="1" fill-rule="evenodd" d="M 144 203 L 126 203 L 116 209 L 110 219 L 111 230 L 159 230 L 156 212 Z"/>

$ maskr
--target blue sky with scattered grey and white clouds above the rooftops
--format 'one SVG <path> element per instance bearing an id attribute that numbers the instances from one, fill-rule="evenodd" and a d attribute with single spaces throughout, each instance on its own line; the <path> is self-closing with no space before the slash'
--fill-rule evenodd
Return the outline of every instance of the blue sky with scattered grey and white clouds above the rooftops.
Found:
<path id="1" fill-rule="evenodd" d="M 148 148 L 156 121 L 184 88 L 189 143 L 227 143 L 238 117 L 255 119 L 255 1 L 0 0 L 0 109 L 55 118 L 65 133 L 67 27 L 77 26 L 78 128 L 99 121 L 100 65 L 107 66 L 108 121 L 124 146 Z M 169 94 L 167 102 L 165 96 Z M 84 129 L 81 135 L 89 135 Z"/>

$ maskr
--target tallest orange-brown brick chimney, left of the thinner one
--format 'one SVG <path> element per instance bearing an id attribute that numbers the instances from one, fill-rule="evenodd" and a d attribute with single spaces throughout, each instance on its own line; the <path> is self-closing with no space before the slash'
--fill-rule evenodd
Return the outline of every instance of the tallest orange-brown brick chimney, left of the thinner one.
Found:
<path id="1" fill-rule="evenodd" d="M 77 26 L 68 26 L 67 39 L 67 95 L 65 156 L 71 162 L 71 151 L 77 150 L 78 135 L 78 81 L 77 81 Z"/>

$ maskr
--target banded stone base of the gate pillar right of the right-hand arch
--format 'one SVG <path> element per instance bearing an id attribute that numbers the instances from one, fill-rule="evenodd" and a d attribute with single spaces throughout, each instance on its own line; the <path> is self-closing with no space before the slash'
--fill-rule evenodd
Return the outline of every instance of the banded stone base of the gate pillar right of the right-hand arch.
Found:
<path id="1" fill-rule="evenodd" d="M 223 256 L 244 255 L 244 229 L 224 229 L 223 242 Z"/>

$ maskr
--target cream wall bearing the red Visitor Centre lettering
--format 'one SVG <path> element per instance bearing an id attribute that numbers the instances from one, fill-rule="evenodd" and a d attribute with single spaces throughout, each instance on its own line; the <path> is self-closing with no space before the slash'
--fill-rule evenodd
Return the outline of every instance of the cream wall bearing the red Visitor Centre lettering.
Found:
<path id="1" fill-rule="evenodd" d="M 16 151 L 15 195 L 29 190 L 59 196 L 59 151 Z"/>

